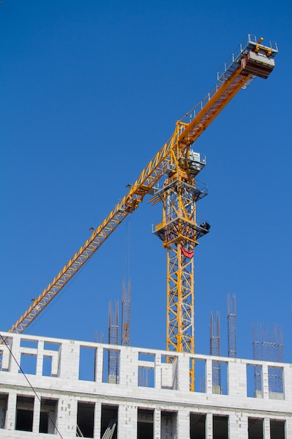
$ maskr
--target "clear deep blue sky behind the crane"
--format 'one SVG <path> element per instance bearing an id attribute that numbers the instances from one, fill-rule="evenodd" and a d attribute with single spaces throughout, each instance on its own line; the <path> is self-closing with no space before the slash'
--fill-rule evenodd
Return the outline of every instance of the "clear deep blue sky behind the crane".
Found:
<path id="1" fill-rule="evenodd" d="M 1 330 L 122 198 L 216 82 L 248 33 L 277 41 L 276 67 L 228 104 L 195 149 L 211 223 L 195 252 L 195 342 L 209 353 L 209 314 L 237 294 L 238 355 L 251 358 L 251 322 L 282 324 L 291 346 L 291 2 L 20 1 L 0 6 Z M 151 224 L 130 217 L 132 344 L 165 349 L 166 254 Z M 107 337 L 120 299 L 126 223 L 102 245 L 29 334 Z"/>

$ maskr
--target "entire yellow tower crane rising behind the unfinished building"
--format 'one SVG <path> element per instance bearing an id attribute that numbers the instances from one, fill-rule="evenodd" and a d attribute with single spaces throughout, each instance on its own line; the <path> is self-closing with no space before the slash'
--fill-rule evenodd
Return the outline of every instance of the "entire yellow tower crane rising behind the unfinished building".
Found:
<path id="1" fill-rule="evenodd" d="M 238 46 L 218 72 L 214 89 L 176 122 L 172 137 L 144 168 L 124 198 L 9 332 L 23 332 L 123 219 L 138 208 L 144 196 L 152 194 L 151 201 L 162 201 L 163 205 L 162 221 L 155 225 L 153 232 L 167 249 L 167 350 L 194 352 L 193 252 L 198 239 L 208 233 L 209 224 L 197 224 L 196 215 L 197 201 L 207 194 L 206 188 L 195 180 L 204 168 L 205 158 L 190 146 L 241 88 L 249 86 L 256 76 L 266 79 L 272 72 L 277 44 L 271 41 L 270 46 L 264 46 L 262 41 L 249 34 Z M 163 176 L 166 176 L 163 187 L 157 189 Z M 191 386 L 192 375 L 193 368 Z"/>

